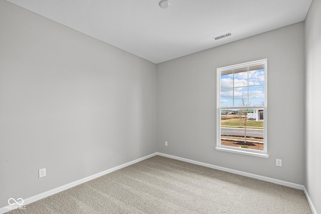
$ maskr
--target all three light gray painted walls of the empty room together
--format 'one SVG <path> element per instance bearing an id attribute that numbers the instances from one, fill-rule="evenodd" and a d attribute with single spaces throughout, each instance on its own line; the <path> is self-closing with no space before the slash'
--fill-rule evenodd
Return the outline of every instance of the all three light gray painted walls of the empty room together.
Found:
<path id="1" fill-rule="evenodd" d="M 305 25 L 156 66 L 0 1 L 0 207 L 10 197 L 34 196 L 157 146 L 158 152 L 304 184 L 321 212 L 315 122 L 321 119 L 315 114 L 321 109 L 320 8 L 313 0 Z M 216 68 L 264 58 L 270 158 L 216 151 Z M 43 167 L 47 176 L 38 178 Z"/>

